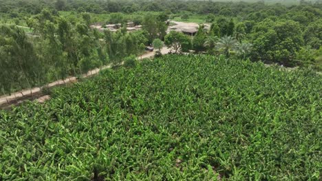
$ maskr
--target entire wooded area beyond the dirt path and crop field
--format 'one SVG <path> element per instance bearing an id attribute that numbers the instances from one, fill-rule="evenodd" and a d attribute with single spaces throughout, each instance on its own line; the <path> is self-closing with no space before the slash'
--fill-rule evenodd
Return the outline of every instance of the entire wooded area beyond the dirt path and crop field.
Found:
<path id="1" fill-rule="evenodd" d="M 63 16 L 62 10 L 71 13 Z M 95 14 L 103 19 L 107 15 L 105 23 L 131 20 L 143 30 L 128 33 L 123 27 L 101 33 L 89 28 L 97 22 L 92 19 Z M 192 14 L 205 16 L 211 29 L 200 25 L 193 38 L 180 32 L 166 34 L 169 17 L 189 19 Z M 146 45 L 153 43 L 160 50 L 160 40 L 175 53 L 192 49 L 322 70 L 319 1 L 286 6 L 263 1 L 0 0 L 0 23 L 1 93 L 79 75 L 131 55 L 133 59 Z M 32 34 L 8 23 L 28 26 Z"/>

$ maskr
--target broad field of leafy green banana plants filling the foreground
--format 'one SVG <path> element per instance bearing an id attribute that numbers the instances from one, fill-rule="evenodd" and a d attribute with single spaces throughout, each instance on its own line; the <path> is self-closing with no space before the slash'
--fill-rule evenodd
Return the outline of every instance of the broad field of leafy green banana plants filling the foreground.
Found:
<path id="1" fill-rule="evenodd" d="M 0 180 L 321 180 L 321 94 L 213 56 L 103 71 L 0 113 Z"/>

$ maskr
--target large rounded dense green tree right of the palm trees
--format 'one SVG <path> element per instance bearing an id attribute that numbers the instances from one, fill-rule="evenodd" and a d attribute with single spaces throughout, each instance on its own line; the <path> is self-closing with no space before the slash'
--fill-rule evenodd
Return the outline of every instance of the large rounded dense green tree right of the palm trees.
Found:
<path id="1" fill-rule="evenodd" d="M 294 65 L 295 52 L 303 45 L 301 28 L 294 21 L 266 19 L 254 27 L 253 60 Z"/>

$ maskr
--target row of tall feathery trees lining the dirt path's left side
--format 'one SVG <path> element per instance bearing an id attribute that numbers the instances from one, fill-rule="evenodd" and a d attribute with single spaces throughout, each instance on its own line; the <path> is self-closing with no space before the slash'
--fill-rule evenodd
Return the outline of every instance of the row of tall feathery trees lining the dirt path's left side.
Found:
<path id="1" fill-rule="evenodd" d="M 154 19 L 144 19 L 143 30 L 131 33 L 126 26 L 98 32 L 90 28 L 88 13 L 80 15 L 82 20 L 75 22 L 44 9 L 26 20 L 32 34 L 16 25 L 0 25 L 1 93 L 64 80 L 109 62 L 118 64 L 143 53 L 167 29 L 164 14 L 149 15 Z"/>

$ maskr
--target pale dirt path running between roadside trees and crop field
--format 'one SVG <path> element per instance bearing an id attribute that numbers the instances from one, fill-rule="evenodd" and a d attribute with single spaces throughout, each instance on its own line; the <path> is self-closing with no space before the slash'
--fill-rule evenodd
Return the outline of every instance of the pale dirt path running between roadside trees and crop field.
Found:
<path id="1" fill-rule="evenodd" d="M 169 53 L 169 51 L 170 51 L 170 49 L 168 49 L 167 47 L 163 47 L 161 49 L 162 54 L 167 54 L 167 53 Z M 142 55 L 142 58 L 151 58 L 154 56 L 154 54 L 155 54 L 155 51 L 151 51 L 149 53 L 145 53 L 144 55 Z M 141 58 L 141 56 L 138 57 L 139 60 L 140 60 L 140 58 Z M 85 78 L 85 77 L 90 77 L 92 75 L 96 75 L 100 70 L 110 69 L 111 67 L 112 67 L 112 64 L 109 64 L 104 67 L 101 67 L 100 69 L 93 69 L 92 71 L 88 71 L 87 73 L 83 74 L 82 77 Z M 67 77 L 65 80 L 57 80 L 55 82 L 48 84 L 48 88 L 52 88 L 54 86 L 59 86 L 59 85 L 63 85 L 63 84 L 73 83 L 73 82 L 77 82 L 76 77 Z M 43 86 L 43 87 L 45 87 L 45 86 Z M 30 97 L 32 97 L 32 95 L 41 95 L 41 88 L 42 87 L 34 87 L 31 90 L 25 89 L 25 90 L 21 90 L 16 93 L 12 93 L 12 95 L 2 95 L 2 96 L 0 96 L 0 106 L 8 104 L 8 102 L 12 102 L 17 99 L 23 101 L 24 98 L 26 98 L 26 99 L 27 99 L 27 97 L 30 98 Z"/>

